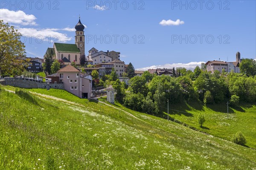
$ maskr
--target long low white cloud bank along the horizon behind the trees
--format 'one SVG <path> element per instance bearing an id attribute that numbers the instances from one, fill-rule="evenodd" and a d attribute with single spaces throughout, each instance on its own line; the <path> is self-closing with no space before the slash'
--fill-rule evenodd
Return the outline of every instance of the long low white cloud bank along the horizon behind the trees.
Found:
<path id="1" fill-rule="evenodd" d="M 195 67 L 198 65 L 201 66 L 201 62 L 189 62 L 189 63 L 172 63 L 172 64 L 164 64 L 164 65 L 152 65 L 149 67 L 137 68 L 136 70 L 144 70 L 147 71 L 148 69 L 157 69 L 157 68 L 177 68 L 177 67 L 184 67 L 187 70 L 194 70 Z M 204 62 L 205 63 L 205 62 Z"/>

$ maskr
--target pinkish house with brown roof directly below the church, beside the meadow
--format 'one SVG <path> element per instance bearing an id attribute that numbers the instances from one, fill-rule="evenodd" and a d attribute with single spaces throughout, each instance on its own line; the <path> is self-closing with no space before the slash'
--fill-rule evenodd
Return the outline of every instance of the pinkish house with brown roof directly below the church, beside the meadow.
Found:
<path id="1" fill-rule="evenodd" d="M 80 98 L 90 99 L 92 81 L 85 77 L 77 68 L 67 65 L 57 71 L 64 89 Z"/>

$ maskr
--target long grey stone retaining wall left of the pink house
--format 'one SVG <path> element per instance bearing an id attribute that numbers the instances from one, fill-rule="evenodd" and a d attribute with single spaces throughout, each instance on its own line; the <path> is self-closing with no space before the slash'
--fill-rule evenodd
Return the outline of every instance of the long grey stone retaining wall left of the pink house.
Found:
<path id="1" fill-rule="evenodd" d="M 0 80 L 2 85 L 10 85 L 19 88 L 55 88 L 55 89 L 64 89 L 64 85 L 61 83 L 56 84 L 47 84 L 37 80 L 32 79 L 23 79 L 23 78 L 14 78 L 14 77 L 5 77 Z"/>

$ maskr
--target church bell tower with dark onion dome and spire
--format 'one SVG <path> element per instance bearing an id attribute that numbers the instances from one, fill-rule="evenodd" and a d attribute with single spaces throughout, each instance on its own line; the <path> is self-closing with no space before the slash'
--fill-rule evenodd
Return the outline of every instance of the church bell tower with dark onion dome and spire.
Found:
<path id="1" fill-rule="evenodd" d="M 84 55 L 84 41 L 85 41 L 84 25 L 80 21 L 80 15 L 79 15 L 79 22 L 76 24 L 75 28 L 76 28 L 76 36 L 75 36 L 76 45 L 80 50 L 80 55 Z"/>

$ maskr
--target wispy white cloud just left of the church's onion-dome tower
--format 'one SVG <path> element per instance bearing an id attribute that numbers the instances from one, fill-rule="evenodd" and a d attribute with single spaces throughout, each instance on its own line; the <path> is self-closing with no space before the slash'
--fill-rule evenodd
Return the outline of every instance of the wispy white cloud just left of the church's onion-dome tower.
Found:
<path id="1" fill-rule="evenodd" d="M 18 31 L 27 37 L 27 41 L 29 37 L 35 38 L 38 37 L 38 42 L 41 40 L 44 41 L 51 41 L 51 42 L 67 42 L 72 40 L 72 37 L 68 37 L 67 34 L 63 34 L 57 32 L 58 28 L 44 28 L 44 29 L 37 29 L 37 28 L 18 28 Z"/>

